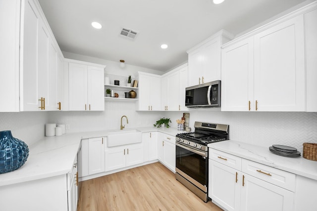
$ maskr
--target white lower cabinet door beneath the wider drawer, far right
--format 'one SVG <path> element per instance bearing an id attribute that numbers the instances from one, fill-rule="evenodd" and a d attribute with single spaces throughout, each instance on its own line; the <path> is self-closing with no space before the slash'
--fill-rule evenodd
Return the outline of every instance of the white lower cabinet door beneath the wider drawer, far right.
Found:
<path id="1" fill-rule="evenodd" d="M 292 211 L 294 193 L 256 177 L 244 174 L 241 211 Z"/>

